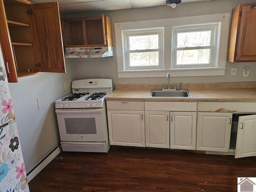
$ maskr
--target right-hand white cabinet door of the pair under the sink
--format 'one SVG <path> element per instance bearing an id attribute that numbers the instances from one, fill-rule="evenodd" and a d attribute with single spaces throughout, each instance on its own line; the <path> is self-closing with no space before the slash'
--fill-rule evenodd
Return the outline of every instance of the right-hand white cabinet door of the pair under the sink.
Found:
<path id="1" fill-rule="evenodd" d="M 170 148 L 196 149 L 196 112 L 170 112 Z"/>

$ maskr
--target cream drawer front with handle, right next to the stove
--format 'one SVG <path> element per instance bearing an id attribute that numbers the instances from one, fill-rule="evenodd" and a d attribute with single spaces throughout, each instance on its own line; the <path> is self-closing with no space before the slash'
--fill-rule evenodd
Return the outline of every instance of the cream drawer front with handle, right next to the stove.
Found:
<path id="1" fill-rule="evenodd" d="M 143 101 L 107 101 L 108 110 L 141 110 L 144 111 Z"/>

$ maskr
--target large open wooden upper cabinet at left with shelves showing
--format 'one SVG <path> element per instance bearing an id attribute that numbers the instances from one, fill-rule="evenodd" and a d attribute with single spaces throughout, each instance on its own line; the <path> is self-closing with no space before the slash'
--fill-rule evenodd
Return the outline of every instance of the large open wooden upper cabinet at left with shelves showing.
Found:
<path id="1" fill-rule="evenodd" d="M 38 72 L 65 72 L 58 2 L 0 0 L 0 44 L 9 82 Z"/>

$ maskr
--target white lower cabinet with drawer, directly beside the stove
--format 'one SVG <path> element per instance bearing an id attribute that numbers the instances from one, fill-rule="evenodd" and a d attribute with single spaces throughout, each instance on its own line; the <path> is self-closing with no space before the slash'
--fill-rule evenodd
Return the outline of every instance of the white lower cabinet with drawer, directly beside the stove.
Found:
<path id="1" fill-rule="evenodd" d="M 145 147 L 144 102 L 107 101 L 110 145 Z"/>

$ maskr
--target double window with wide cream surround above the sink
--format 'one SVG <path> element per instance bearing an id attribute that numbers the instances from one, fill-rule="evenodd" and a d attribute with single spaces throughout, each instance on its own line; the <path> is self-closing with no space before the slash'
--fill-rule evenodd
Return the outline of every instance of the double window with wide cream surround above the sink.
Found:
<path id="1" fill-rule="evenodd" d="M 223 76 L 230 13 L 114 24 L 118 78 Z"/>

